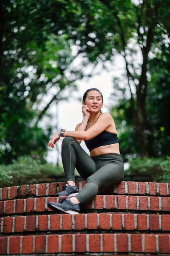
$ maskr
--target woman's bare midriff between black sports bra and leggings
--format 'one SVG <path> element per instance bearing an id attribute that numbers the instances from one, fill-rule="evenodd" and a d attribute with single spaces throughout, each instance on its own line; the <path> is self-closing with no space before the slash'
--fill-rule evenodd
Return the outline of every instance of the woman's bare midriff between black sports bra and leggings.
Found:
<path id="1" fill-rule="evenodd" d="M 120 154 L 119 143 L 94 148 L 90 152 L 90 157 L 96 157 L 96 156 L 99 156 L 99 155 L 102 155 L 102 154 L 111 154 L 111 153 Z"/>

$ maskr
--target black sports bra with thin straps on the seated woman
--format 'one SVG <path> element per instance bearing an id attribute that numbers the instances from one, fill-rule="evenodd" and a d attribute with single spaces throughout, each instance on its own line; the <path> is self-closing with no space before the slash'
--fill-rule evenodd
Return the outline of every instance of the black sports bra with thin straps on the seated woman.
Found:
<path id="1" fill-rule="evenodd" d="M 99 118 L 99 116 L 98 116 Z M 98 119 L 97 118 L 97 119 Z M 87 129 L 87 126 L 85 128 L 85 131 Z M 100 146 L 105 146 L 105 145 L 111 145 L 119 143 L 117 134 L 113 134 L 108 131 L 102 131 L 100 134 L 95 136 L 94 138 L 90 140 L 85 140 L 85 145 L 87 146 L 88 150 L 91 152 L 94 148 L 98 148 Z"/>

